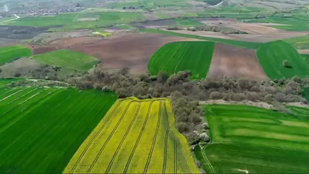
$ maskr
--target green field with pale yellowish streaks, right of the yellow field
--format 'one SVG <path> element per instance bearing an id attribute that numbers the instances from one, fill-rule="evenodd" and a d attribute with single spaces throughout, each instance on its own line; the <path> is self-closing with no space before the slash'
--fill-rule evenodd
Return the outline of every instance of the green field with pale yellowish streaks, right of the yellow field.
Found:
<path id="1" fill-rule="evenodd" d="M 205 105 L 204 110 L 211 143 L 195 146 L 194 152 L 206 173 L 309 171 L 308 117 L 244 105 Z"/>

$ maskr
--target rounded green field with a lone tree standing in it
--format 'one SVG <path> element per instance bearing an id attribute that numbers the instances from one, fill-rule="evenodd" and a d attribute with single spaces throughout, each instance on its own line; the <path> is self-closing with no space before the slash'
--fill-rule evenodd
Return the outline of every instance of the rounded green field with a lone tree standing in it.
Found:
<path id="1" fill-rule="evenodd" d="M 295 75 L 305 77 L 309 75 L 309 64 L 287 42 L 274 41 L 265 43 L 257 49 L 257 56 L 264 72 L 271 79 L 290 78 Z M 288 60 L 291 67 L 284 67 L 284 60 Z"/>

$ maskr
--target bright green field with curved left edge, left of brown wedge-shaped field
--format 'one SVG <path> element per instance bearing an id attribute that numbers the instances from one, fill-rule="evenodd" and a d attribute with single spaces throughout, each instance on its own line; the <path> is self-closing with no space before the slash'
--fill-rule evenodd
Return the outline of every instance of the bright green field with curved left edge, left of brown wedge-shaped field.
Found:
<path id="1" fill-rule="evenodd" d="M 148 62 L 148 71 L 157 75 L 159 71 L 174 74 L 190 70 L 191 78 L 205 78 L 213 57 L 214 42 L 173 42 L 161 47 Z"/>

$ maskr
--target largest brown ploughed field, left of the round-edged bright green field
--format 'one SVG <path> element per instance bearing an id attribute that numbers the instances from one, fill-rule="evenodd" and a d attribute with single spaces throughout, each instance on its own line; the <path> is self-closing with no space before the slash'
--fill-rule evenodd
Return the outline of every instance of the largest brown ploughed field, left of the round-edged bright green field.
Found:
<path id="1" fill-rule="evenodd" d="M 93 39 L 92 42 L 84 42 Z M 67 48 L 87 53 L 101 59 L 101 66 L 107 69 L 129 67 L 132 74 L 147 71 L 147 62 L 157 49 L 165 43 L 174 41 L 196 40 L 160 34 L 117 33 L 106 39 L 67 38 L 51 42 L 56 48 Z"/>

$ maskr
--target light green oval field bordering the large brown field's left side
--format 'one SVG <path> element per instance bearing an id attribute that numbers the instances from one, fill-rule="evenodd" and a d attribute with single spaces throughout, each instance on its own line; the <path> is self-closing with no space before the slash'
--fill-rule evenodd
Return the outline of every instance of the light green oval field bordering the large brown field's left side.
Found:
<path id="1" fill-rule="evenodd" d="M 42 64 L 59 66 L 76 71 L 87 71 L 96 65 L 99 60 L 85 53 L 60 49 L 33 56 Z"/>

